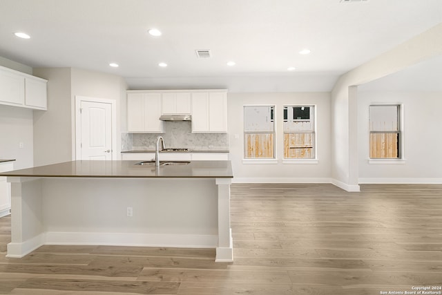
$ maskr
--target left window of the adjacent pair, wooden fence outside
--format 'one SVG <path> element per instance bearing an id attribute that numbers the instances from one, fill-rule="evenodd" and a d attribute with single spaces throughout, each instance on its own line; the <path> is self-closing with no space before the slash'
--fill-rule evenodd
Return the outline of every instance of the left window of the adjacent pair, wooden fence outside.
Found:
<path id="1" fill-rule="evenodd" d="M 244 158 L 275 158 L 274 106 L 244 106 Z"/>

